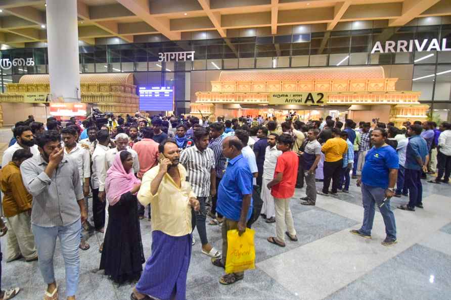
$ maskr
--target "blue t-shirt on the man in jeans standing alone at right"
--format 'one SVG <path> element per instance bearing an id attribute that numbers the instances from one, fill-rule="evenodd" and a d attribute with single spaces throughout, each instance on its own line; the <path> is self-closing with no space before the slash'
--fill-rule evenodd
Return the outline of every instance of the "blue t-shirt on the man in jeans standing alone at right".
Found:
<path id="1" fill-rule="evenodd" d="M 399 169 L 398 154 L 391 146 L 372 147 L 365 157 L 362 182 L 369 186 L 387 188 L 390 169 Z"/>

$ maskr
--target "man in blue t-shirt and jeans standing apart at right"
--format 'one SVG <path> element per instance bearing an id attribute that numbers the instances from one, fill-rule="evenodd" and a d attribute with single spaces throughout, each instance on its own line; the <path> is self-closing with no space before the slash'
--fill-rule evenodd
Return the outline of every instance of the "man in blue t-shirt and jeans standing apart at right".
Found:
<path id="1" fill-rule="evenodd" d="M 351 230 L 366 238 L 371 238 L 374 221 L 374 204 L 377 204 L 385 224 L 387 237 L 382 244 L 391 246 L 396 243 L 396 222 L 390 209 L 390 198 L 394 196 L 396 178 L 398 175 L 398 155 L 396 151 L 385 143 L 387 132 L 376 128 L 371 133 L 374 145 L 365 157 L 362 177 L 357 180 L 357 186 L 362 186 L 362 202 L 364 207 L 364 221 L 358 230 Z"/>

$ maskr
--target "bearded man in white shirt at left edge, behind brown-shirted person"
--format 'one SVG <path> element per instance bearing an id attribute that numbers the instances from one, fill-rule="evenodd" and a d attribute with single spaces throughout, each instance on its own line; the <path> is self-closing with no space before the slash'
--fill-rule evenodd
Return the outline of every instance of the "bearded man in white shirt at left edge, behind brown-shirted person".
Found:
<path id="1" fill-rule="evenodd" d="M 17 126 L 14 128 L 14 136 L 17 141 L 3 153 L 2 168 L 13 160 L 13 154 L 18 149 L 27 149 L 34 158 L 40 157 L 37 145 L 34 144 L 33 132 L 29 126 Z"/>

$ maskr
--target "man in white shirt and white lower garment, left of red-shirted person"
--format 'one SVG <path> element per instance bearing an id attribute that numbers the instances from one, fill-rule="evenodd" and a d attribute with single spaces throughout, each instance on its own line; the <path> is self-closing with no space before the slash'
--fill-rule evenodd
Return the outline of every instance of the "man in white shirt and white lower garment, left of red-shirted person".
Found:
<path id="1" fill-rule="evenodd" d="M 269 181 L 274 179 L 274 172 L 276 170 L 277 158 L 282 155 L 282 151 L 277 149 L 276 140 L 279 135 L 277 133 L 270 133 L 268 136 L 268 146 L 264 154 L 263 163 L 263 178 L 261 184 L 261 199 L 263 206 L 261 214 L 266 219 L 266 223 L 276 222 L 276 208 L 274 207 L 274 197 L 271 190 L 267 187 Z"/>

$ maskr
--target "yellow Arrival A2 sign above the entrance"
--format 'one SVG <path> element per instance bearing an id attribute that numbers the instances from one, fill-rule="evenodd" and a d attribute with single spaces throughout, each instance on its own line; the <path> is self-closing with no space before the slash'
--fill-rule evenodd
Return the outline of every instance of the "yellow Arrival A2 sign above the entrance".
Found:
<path id="1" fill-rule="evenodd" d="M 327 105 L 329 94 L 325 92 L 278 92 L 270 93 L 269 105 Z"/>

